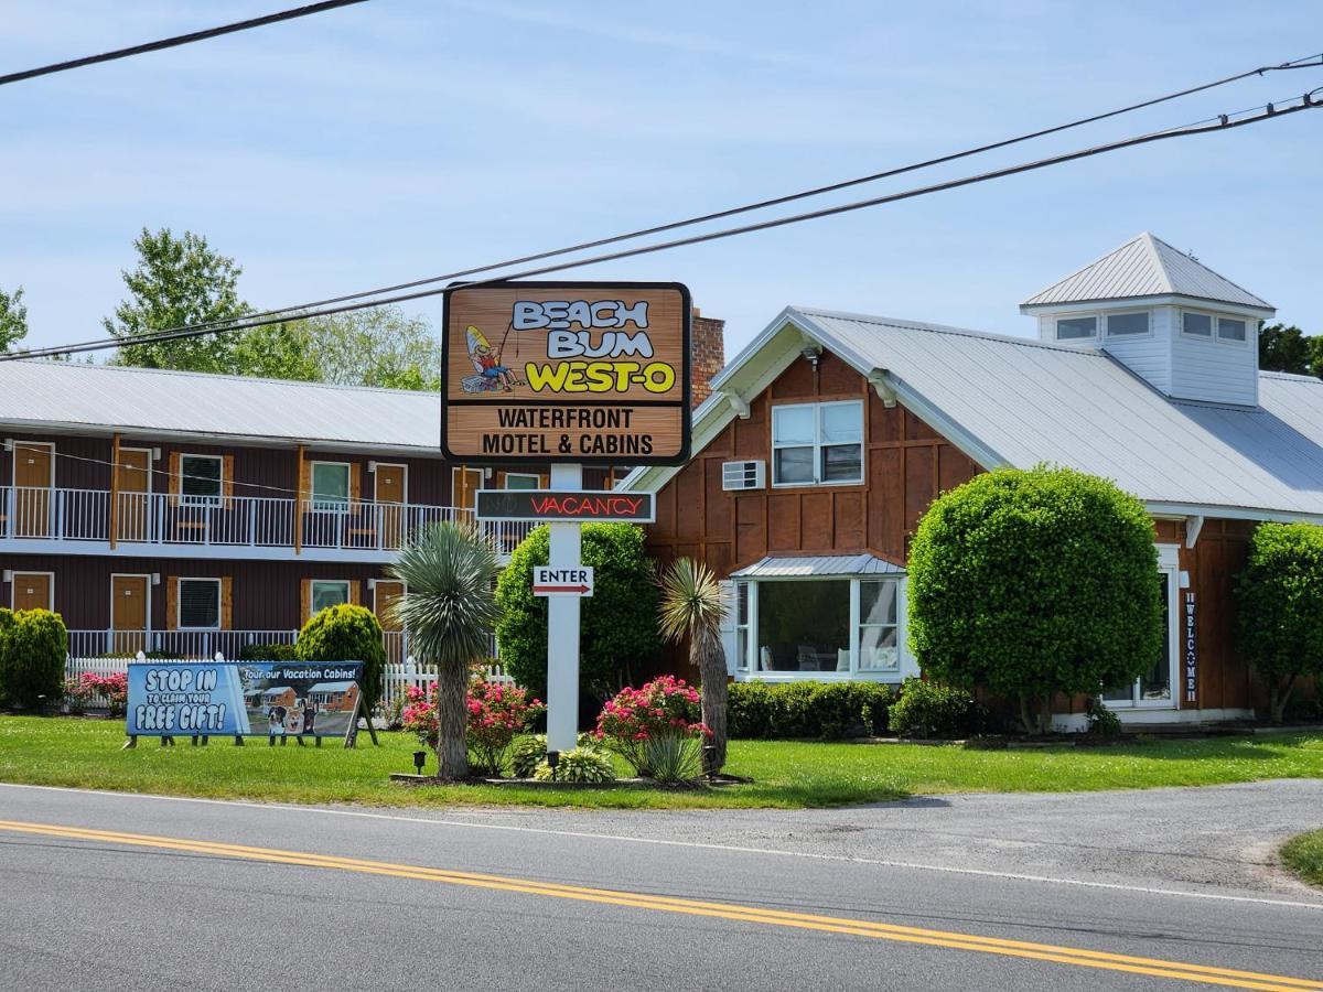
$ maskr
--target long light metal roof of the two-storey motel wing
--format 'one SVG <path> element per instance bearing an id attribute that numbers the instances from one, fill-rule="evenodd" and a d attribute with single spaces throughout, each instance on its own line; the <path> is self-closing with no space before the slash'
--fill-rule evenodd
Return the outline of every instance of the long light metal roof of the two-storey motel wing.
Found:
<path id="1" fill-rule="evenodd" d="M 441 451 L 441 398 L 57 361 L 0 362 L 0 423 Z"/>

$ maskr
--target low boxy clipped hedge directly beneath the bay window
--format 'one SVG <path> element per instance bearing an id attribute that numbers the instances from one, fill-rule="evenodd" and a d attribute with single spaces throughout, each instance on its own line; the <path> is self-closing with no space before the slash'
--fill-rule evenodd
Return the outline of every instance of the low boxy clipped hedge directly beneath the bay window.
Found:
<path id="1" fill-rule="evenodd" d="M 836 741 L 885 733 L 894 693 L 878 682 L 734 682 L 726 721 L 733 738 Z"/>

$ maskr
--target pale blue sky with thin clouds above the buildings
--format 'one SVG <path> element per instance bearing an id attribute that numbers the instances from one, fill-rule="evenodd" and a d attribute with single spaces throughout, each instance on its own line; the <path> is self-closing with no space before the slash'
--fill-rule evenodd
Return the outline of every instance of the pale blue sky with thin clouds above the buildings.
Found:
<path id="1" fill-rule="evenodd" d="M 0 0 L 0 70 L 290 5 Z M 138 230 L 171 226 L 233 255 L 254 306 L 292 304 L 995 140 L 1316 52 L 1318 26 L 1308 0 L 370 0 L 0 89 L 0 287 L 26 288 L 29 345 L 97 336 Z M 867 189 L 1320 85 L 1273 74 Z M 787 303 L 1028 335 L 1020 299 L 1151 230 L 1320 332 L 1320 139 L 1311 111 L 579 275 L 688 283 L 728 354 Z"/>

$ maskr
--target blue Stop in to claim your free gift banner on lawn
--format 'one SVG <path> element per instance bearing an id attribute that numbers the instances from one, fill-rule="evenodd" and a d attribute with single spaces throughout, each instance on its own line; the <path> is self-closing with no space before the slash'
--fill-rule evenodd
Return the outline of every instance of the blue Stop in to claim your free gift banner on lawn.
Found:
<path id="1" fill-rule="evenodd" d="M 128 737 L 344 737 L 361 661 L 140 661 L 128 665 Z"/>

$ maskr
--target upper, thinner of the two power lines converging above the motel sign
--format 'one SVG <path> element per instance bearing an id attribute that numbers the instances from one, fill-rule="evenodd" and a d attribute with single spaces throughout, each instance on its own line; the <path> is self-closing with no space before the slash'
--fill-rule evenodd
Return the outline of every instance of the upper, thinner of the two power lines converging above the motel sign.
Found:
<path id="1" fill-rule="evenodd" d="M 767 209 L 770 206 L 781 206 L 781 205 L 795 202 L 795 201 L 799 201 L 799 200 L 808 200 L 808 198 L 812 198 L 812 197 L 816 197 L 816 196 L 823 196 L 824 193 L 835 193 L 835 192 L 839 192 L 841 189 L 849 189 L 852 186 L 859 186 L 859 185 L 864 185 L 864 184 L 868 184 L 868 183 L 877 183 L 878 180 L 892 179 L 894 176 L 901 176 L 901 175 L 905 175 L 905 173 L 909 173 L 909 172 L 917 172 L 917 171 L 921 171 L 921 169 L 931 168 L 933 165 L 943 165 L 946 163 L 957 161 L 959 159 L 967 159 L 967 157 L 971 157 L 971 156 L 975 156 L 975 155 L 982 155 L 982 153 L 990 152 L 990 151 L 996 151 L 999 148 L 1008 148 L 1008 147 L 1011 147 L 1013 144 L 1020 144 L 1020 143 L 1029 142 L 1029 140 L 1033 140 L 1033 139 L 1037 139 L 1037 138 L 1044 138 L 1046 135 L 1060 134 L 1062 131 L 1069 131 L 1069 130 L 1076 128 L 1076 127 L 1084 127 L 1085 124 L 1093 124 L 1093 123 L 1097 123 L 1099 120 L 1107 120 L 1109 118 L 1121 116 L 1122 114 L 1130 114 L 1130 112 L 1132 112 L 1135 110 L 1143 110 L 1146 107 L 1152 107 L 1152 106 L 1156 106 L 1159 103 L 1167 103 L 1170 101 L 1179 99 L 1180 97 L 1188 97 L 1188 95 L 1195 94 L 1195 93 L 1203 93 L 1204 90 L 1211 90 L 1211 89 L 1215 89 L 1215 87 L 1218 87 L 1218 86 L 1225 86 L 1226 83 L 1238 82 L 1238 81 L 1246 79 L 1246 78 L 1249 78 L 1252 75 L 1263 75 L 1265 73 L 1283 71 L 1283 70 L 1291 70 L 1291 69 L 1310 69 L 1310 67 L 1316 67 L 1316 66 L 1323 66 L 1323 54 L 1318 54 L 1318 56 L 1315 56 L 1315 54 L 1301 56 L 1299 58 L 1293 58 L 1289 62 L 1281 62 L 1278 65 L 1266 65 L 1266 66 L 1257 66 L 1254 69 L 1246 69 L 1245 71 L 1236 73 L 1234 75 L 1226 75 L 1226 77 L 1222 77 L 1221 79 L 1213 79 L 1211 82 L 1199 83 L 1196 86 L 1191 86 L 1191 87 L 1187 87 L 1184 90 L 1177 90 L 1175 93 L 1168 93 L 1168 94 L 1163 94 L 1160 97 L 1154 97 L 1151 99 L 1140 101 L 1139 103 L 1131 103 L 1129 106 L 1118 107 L 1115 110 L 1103 111 L 1101 114 L 1093 114 L 1091 116 L 1077 118 L 1076 120 L 1069 120 L 1069 122 L 1066 122 L 1064 124 L 1054 124 L 1052 127 L 1041 128 L 1039 131 L 1029 131 L 1027 134 L 1016 135 L 1015 138 L 1005 138 L 1005 139 L 1002 139 L 999 142 L 992 142 L 990 144 L 982 144 L 982 145 L 978 145 L 978 147 L 974 147 L 974 148 L 966 148 L 966 149 L 962 149 L 962 151 L 958 151 L 958 152 L 950 152 L 947 155 L 937 156 L 935 159 L 926 159 L 923 161 L 910 163 L 908 165 L 898 165 L 898 167 L 894 167 L 894 168 L 890 168 L 890 169 L 885 169 L 882 172 L 871 173 L 868 176 L 857 176 L 857 177 L 853 177 L 853 179 L 845 179 L 845 180 L 840 180 L 840 181 L 836 181 L 836 183 L 830 183 L 827 185 L 814 186 L 811 189 L 804 189 L 804 190 L 795 192 L 795 193 L 787 193 L 787 194 L 783 194 L 783 196 L 771 197 L 770 200 L 758 200 L 755 202 L 742 204 L 740 206 L 733 206 L 733 208 L 728 208 L 728 209 L 724 209 L 724 210 L 714 210 L 712 213 L 699 214 L 699 216 L 688 217 L 688 218 L 680 220 L 680 221 L 671 221 L 671 222 L 667 222 L 667 224 L 655 225 L 652 227 L 640 227 L 638 230 L 626 231 L 623 234 L 614 234 L 614 235 L 610 235 L 610 237 L 606 237 L 606 238 L 598 238 L 595 241 L 585 241 L 585 242 L 581 242 L 578 245 L 572 245 L 569 247 L 552 249 L 552 250 L 548 250 L 548 251 L 540 251 L 540 253 L 531 254 L 531 255 L 521 255 L 521 257 L 516 257 L 516 258 L 508 258 L 508 259 L 505 259 L 503 262 L 492 262 L 490 265 L 475 266 L 472 269 L 460 269 L 460 270 L 456 270 L 454 272 L 443 272 L 441 275 L 431 275 L 431 276 L 427 276 L 427 278 L 423 278 L 423 279 L 414 279 L 414 280 L 410 280 L 410 282 L 396 283 L 393 286 L 382 286 L 382 287 L 378 287 L 376 290 L 363 290 L 360 292 L 351 292 L 351 294 L 345 294 L 345 295 L 341 295 L 341 296 L 331 296 L 331 298 L 327 298 L 327 299 L 323 299 L 323 300 L 314 300 L 311 303 L 302 303 L 302 304 L 296 304 L 296 306 L 279 307 L 277 310 L 266 310 L 266 311 L 261 311 L 261 312 L 257 312 L 257 313 L 249 313 L 249 315 L 246 315 L 243 317 L 243 320 L 257 320 L 257 319 L 262 319 L 262 317 L 274 317 L 274 316 L 278 316 L 278 315 L 286 315 L 288 319 L 298 319 L 298 317 L 303 316 L 306 311 L 311 311 L 311 310 L 315 310 L 318 307 L 329 307 L 329 306 L 333 306 L 336 303 L 348 303 L 349 300 L 361 300 L 361 299 L 365 299 L 368 296 L 381 296 L 381 295 L 385 295 L 388 292 L 400 292 L 402 290 L 414 290 L 414 288 L 417 288 L 419 286 L 430 286 L 430 284 L 434 284 L 434 283 L 448 282 L 451 279 L 463 279 L 463 278 L 470 276 L 470 275 L 480 275 L 483 272 L 491 272 L 491 271 L 495 271 L 497 269 L 508 269 L 508 267 L 516 266 L 516 265 L 528 265 L 531 262 L 542 262 L 542 261 L 546 261 L 549 258 L 558 258 L 558 257 L 574 254 L 574 253 L 578 253 L 578 251 L 587 251 L 587 250 L 595 249 L 595 247 L 605 247 L 607 245 L 617 245 L 617 243 L 620 243 L 620 242 L 624 242 L 624 241 L 635 241 L 638 238 L 650 237 L 652 234 L 663 234 L 665 231 L 677 230 L 677 229 L 681 229 L 681 227 L 691 227 L 691 226 L 695 226 L 695 225 L 699 225 L 699 224 L 706 224 L 706 222 L 710 222 L 710 221 L 725 220 L 728 217 L 736 217 L 738 214 L 751 213 L 751 212 L 755 212 L 755 210 L 765 210 L 765 209 Z M 1254 110 L 1254 107 L 1252 107 L 1250 110 Z M 1238 112 L 1248 112 L 1248 111 L 1238 111 Z M 1236 115 L 1233 114 L 1230 116 L 1236 116 Z M 1217 118 L 1208 118 L 1205 120 L 1199 120 L 1199 122 L 1195 122 L 1195 123 L 1196 124 L 1203 124 L 1203 123 L 1208 123 L 1209 120 L 1216 120 L 1216 119 Z M 175 327 L 175 328 L 165 328 L 165 329 L 160 331 L 159 333 L 169 333 L 172 331 L 192 331 L 192 329 L 200 329 L 200 328 L 204 328 L 204 327 L 218 327 L 220 328 L 220 327 L 226 327 L 230 323 L 232 323 L 230 320 L 212 320 L 212 321 L 205 321 L 205 323 L 200 323 L 200 324 L 188 324 L 188 325 L 181 325 L 181 327 Z"/>

